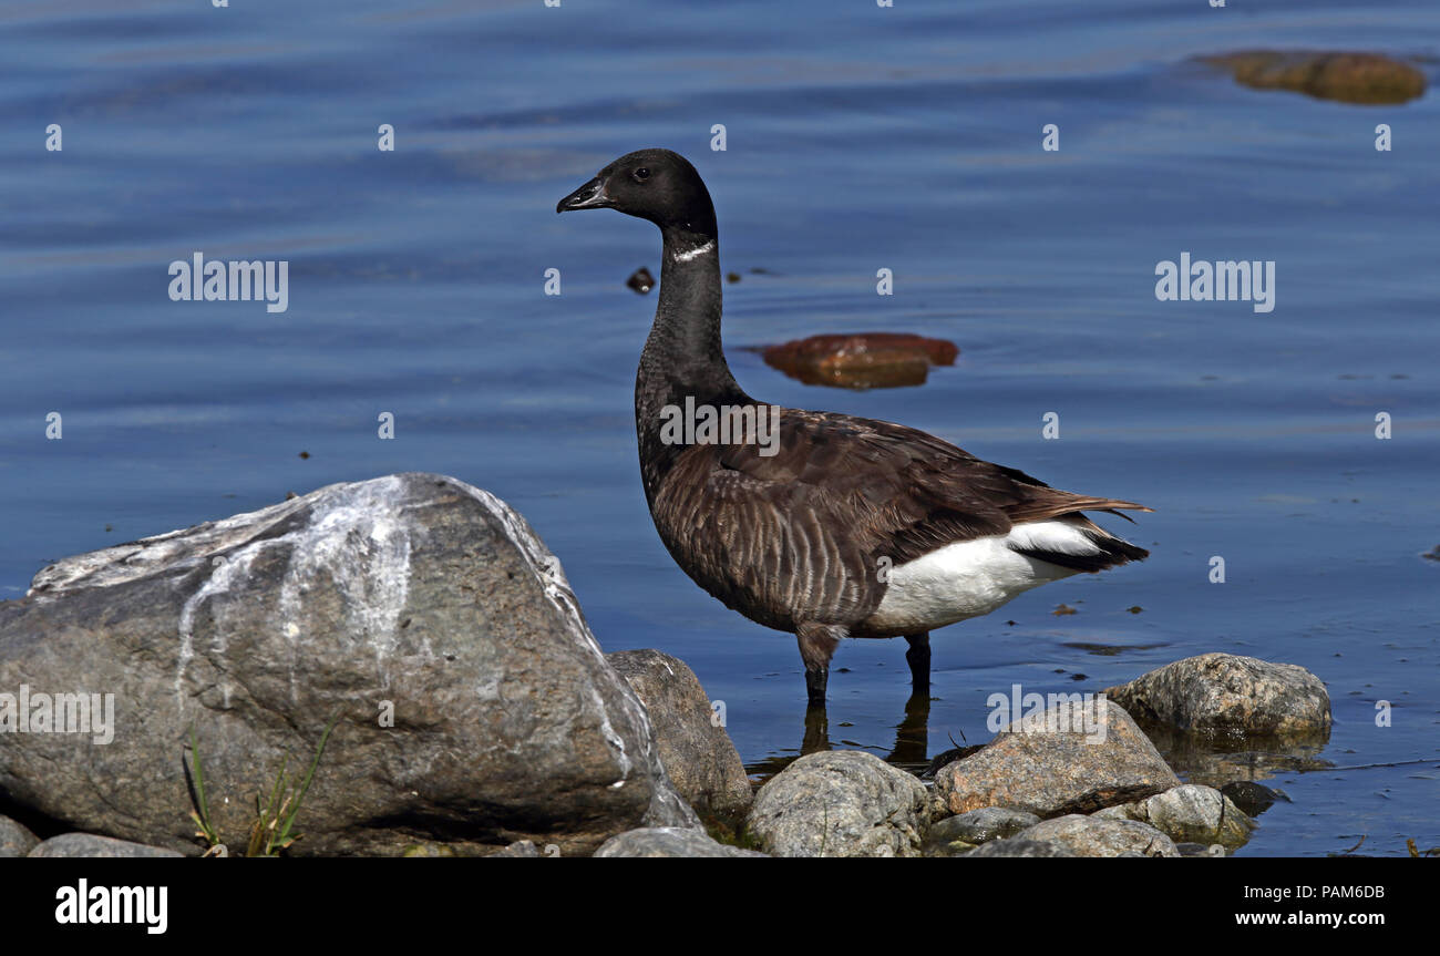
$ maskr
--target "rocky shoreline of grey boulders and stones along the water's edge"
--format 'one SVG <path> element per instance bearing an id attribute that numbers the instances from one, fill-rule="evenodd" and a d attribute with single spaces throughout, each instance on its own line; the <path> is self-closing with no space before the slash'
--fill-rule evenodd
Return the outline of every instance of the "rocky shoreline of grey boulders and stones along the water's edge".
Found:
<path id="1" fill-rule="evenodd" d="M 752 792 L 694 672 L 603 654 L 521 515 L 389 475 L 71 557 L 0 603 L 0 857 L 242 855 L 281 766 L 302 836 L 269 842 L 294 855 L 1218 857 L 1267 788 L 1224 762 L 1182 782 L 1152 739 L 1331 724 L 1309 671 L 1223 654 L 1057 697 L 933 783 L 819 750 Z"/>

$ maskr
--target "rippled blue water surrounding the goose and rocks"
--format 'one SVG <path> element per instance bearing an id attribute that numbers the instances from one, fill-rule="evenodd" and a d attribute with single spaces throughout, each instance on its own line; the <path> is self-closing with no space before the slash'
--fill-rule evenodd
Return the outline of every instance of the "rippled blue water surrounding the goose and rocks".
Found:
<path id="1" fill-rule="evenodd" d="M 1250 654 L 1328 682 L 1322 760 L 1427 763 L 1280 772 L 1292 802 L 1241 854 L 1440 845 L 1440 563 L 1420 557 L 1440 544 L 1440 98 L 1354 107 L 1187 62 L 1256 46 L 1428 58 L 1434 84 L 1440 7 L 0 3 L 0 596 L 65 554 L 438 471 L 528 517 L 606 649 L 685 659 L 749 765 L 796 753 L 793 639 L 690 583 L 641 495 L 654 294 L 622 282 L 658 275 L 658 238 L 553 212 L 615 155 L 667 145 L 706 177 L 743 274 L 726 341 L 749 392 L 1156 508 L 1126 526 L 1149 562 L 935 635 L 932 756 L 986 740 L 985 698 L 1012 682 L 1094 691 Z M 196 251 L 287 259 L 288 311 L 171 302 L 167 266 Z M 1156 301 L 1155 263 L 1182 251 L 1276 261 L 1277 307 Z M 923 387 L 855 393 L 742 351 L 834 331 L 962 354 Z M 835 746 L 894 746 L 901 652 L 841 648 Z"/>

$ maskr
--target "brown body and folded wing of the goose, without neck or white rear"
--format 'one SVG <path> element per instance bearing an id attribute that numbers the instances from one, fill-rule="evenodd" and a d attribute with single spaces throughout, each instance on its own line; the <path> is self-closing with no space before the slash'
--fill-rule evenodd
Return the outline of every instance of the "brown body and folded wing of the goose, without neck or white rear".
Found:
<path id="1" fill-rule="evenodd" d="M 765 451 L 755 441 L 685 448 L 652 514 L 701 587 L 786 631 L 868 618 L 886 590 L 883 559 L 903 564 L 1083 508 L 1140 508 L 1058 491 L 933 435 L 845 415 L 783 409 L 775 454 Z"/>

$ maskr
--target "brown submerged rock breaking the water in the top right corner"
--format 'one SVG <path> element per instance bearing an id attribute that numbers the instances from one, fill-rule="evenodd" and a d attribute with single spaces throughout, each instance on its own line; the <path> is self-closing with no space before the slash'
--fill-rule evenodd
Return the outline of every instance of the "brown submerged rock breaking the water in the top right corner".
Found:
<path id="1" fill-rule="evenodd" d="M 1377 53 L 1336 50 L 1241 50 L 1202 56 L 1256 89 L 1289 89 L 1319 99 L 1400 104 L 1426 92 L 1426 75 Z"/>

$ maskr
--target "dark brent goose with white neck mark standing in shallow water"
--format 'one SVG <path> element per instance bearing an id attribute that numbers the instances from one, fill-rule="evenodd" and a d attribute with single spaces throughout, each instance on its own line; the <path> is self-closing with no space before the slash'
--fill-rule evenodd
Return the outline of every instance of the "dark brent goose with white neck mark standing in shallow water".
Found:
<path id="1" fill-rule="evenodd" d="M 576 209 L 660 226 L 660 304 L 635 379 L 645 500 L 697 585 L 796 635 L 812 705 L 841 638 L 906 638 L 923 691 L 933 628 L 1149 554 L 1081 514 L 1143 505 L 1051 488 L 903 425 L 772 410 L 746 394 L 720 348 L 714 206 L 683 155 L 622 155 L 556 206 Z M 674 426 L 680 410 L 706 407 L 711 428 Z"/>

